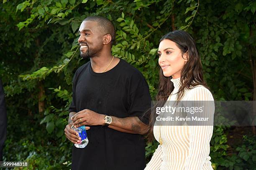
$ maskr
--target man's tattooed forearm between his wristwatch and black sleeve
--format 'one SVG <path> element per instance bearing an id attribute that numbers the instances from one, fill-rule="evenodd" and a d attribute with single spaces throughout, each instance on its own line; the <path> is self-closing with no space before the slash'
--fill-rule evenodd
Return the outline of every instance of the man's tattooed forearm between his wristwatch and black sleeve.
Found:
<path id="1" fill-rule="evenodd" d="M 112 122 L 108 126 L 111 129 L 133 134 L 147 133 L 147 125 L 141 122 L 141 120 L 138 117 L 119 118 L 111 116 L 111 118 Z"/>

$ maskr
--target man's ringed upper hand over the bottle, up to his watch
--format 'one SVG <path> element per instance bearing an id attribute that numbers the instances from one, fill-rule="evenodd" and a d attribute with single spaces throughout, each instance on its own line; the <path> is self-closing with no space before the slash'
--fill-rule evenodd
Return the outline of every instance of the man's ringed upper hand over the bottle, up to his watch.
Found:
<path id="1" fill-rule="evenodd" d="M 104 125 L 105 124 L 105 115 L 98 114 L 89 109 L 84 109 L 80 112 L 74 114 L 71 117 L 75 127 L 80 127 L 82 125 Z"/>

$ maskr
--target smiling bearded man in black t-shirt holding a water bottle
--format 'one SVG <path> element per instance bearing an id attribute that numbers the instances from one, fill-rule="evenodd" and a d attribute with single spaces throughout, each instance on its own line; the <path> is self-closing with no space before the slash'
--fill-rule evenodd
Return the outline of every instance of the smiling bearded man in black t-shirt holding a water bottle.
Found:
<path id="1" fill-rule="evenodd" d="M 88 17 L 79 28 L 81 56 L 90 61 L 77 69 L 65 135 L 81 140 L 72 130 L 86 125 L 89 143 L 73 147 L 73 170 L 143 170 L 151 106 L 148 84 L 141 72 L 111 54 L 115 29 L 110 20 Z M 89 130 L 90 129 L 90 130 Z"/>

